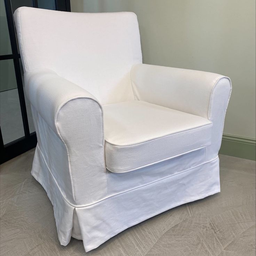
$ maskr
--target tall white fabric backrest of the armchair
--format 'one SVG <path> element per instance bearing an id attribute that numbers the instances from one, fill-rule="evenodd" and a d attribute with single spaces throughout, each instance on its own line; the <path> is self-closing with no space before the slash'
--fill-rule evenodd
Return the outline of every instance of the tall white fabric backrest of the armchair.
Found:
<path id="1" fill-rule="evenodd" d="M 130 71 L 142 63 L 134 13 L 69 13 L 30 7 L 14 13 L 24 72 L 48 68 L 101 104 L 134 99 Z"/>

